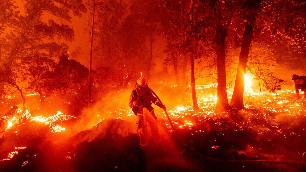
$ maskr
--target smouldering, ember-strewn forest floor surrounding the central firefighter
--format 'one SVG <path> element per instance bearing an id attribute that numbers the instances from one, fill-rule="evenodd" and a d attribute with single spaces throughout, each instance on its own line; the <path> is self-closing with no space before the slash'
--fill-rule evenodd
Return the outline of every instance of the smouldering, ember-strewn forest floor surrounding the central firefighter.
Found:
<path id="1" fill-rule="evenodd" d="M 127 105 L 132 88 L 110 92 L 80 115 L 65 109 L 47 114 L 19 109 L 0 139 L 0 170 L 305 171 L 306 103 L 304 98 L 292 103 L 294 90 L 250 91 L 246 109 L 215 114 L 212 85 L 197 86 L 198 113 L 192 111 L 188 90 L 169 87 L 159 85 L 155 92 L 175 131 L 162 109 L 154 107 L 162 140 L 150 141 L 144 149 Z M 241 162 L 245 160 L 301 164 Z"/>

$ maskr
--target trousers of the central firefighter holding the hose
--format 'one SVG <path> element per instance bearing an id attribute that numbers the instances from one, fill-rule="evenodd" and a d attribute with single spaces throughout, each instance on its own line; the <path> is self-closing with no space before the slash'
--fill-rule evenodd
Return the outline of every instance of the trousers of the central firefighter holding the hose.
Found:
<path id="1" fill-rule="evenodd" d="M 150 126 L 154 141 L 159 141 L 157 118 L 155 117 L 154 111 L 150 113 L 147 108 L 143 108 L 143 114 L 137 114 L 136 123 L 136 129 L 139 133 L 140 145 L 146 145 L 148 143 L 147 123 Z"/>

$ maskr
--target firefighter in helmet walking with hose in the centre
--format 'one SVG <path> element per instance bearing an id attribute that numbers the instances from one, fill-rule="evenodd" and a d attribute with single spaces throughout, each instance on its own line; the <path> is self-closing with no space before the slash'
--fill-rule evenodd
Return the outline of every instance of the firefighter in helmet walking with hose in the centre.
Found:
<path id="1" fill-rule="evenodd" d="M 148 130 L 147 123 L 151 128 L 154 141 L 159 141 L 159 131 L 157 127 L 157 117 L 154 113 L 152 103 L 166 110 L 166 106 L 161 104 L 148 89 L 148 84 L 144 78 L 139 78 L 136 82 L 136 89 L 131 93 L 129 106 L 137 116 L 136 129 L 139 133 L 140 145 L 147 145 Z"/>

